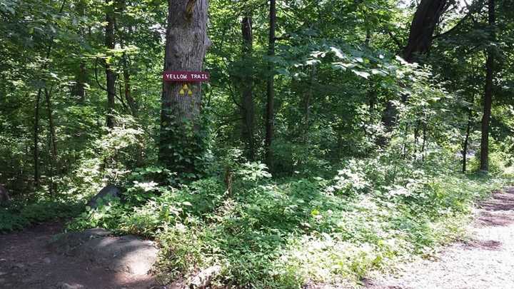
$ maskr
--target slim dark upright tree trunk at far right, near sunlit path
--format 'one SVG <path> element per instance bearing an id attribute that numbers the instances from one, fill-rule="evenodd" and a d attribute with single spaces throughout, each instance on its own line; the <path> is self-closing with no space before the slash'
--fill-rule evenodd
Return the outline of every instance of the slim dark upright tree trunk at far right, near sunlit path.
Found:
<path id="1" fill-rule="evenodd" d="M 492 31 L 491 41 L 495 41 L 495 1 L 489 0 L 489 26 Z M 494 77 L 494 51 L 488 48 L 485 62 L 485 89 L 482 117 L 482 139 L 480 141 L 480 171 L 489 171 L 489 123 L 490 111 L 493 103 L 493 77 Z"/>

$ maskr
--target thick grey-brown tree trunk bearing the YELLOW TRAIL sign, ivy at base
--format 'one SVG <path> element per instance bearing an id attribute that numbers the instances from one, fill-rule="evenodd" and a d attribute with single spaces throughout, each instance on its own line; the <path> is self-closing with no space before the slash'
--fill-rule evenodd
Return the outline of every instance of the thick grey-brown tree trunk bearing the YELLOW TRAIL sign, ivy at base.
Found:
<path id="1" fill-rule="evenodd" d="M 164 71 L 201 71 L 210 46 L 207 10 L 207 0 L 168 0 Z M 165 82 L 161 96 L 159 161 L 179 173 L 198 171 L 195 160 L 203 153 L 201 85 L 187 86 L 191 95 L 184 83 Z"/>

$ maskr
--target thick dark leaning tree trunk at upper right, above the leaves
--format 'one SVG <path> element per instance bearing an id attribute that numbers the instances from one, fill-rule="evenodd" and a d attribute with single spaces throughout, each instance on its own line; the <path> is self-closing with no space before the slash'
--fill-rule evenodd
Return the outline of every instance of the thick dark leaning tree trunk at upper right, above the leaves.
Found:
<path id="1" fill-rule="evenodd" d="M 416 55 L 425 54 L 430 49 L 433 31 L 438 25 L 440 16 L 447 8 L 447 0 L 421 0 L 416 9 L 407 46 L 403 49 L 403 59 L 413 62 Z"/>

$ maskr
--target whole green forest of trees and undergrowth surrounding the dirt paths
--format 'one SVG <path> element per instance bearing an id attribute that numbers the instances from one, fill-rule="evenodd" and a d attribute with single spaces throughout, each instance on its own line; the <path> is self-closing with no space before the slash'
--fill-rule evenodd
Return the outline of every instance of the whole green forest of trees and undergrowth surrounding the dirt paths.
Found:
<path id="1" fill-rule="evenodd" d="M 163 285 L 216 266 L 213 288 L 361 286 L 514 184 L 514 1 L 0 0 L 0 19 L 0 236 L 153 240 Z"/>

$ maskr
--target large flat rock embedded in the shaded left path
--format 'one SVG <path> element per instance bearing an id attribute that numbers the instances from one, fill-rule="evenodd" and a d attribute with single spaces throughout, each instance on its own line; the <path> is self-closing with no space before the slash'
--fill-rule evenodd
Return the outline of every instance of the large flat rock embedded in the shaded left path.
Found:
<path id="1" fill-rule="evenodd" d="M 133 275 L 147 274 L 156 262 L 158 253 L 149 240 L 141 240 L 133 235 L 116 237 L 100 228 L 59 235 L 49 244 L 49 248 L 84 262 Z"/>

